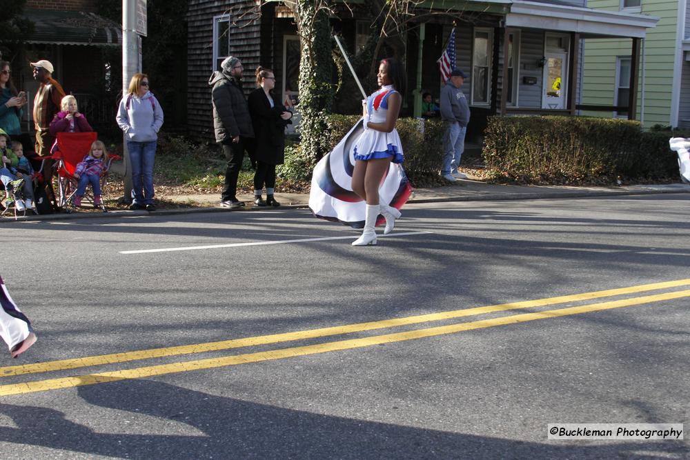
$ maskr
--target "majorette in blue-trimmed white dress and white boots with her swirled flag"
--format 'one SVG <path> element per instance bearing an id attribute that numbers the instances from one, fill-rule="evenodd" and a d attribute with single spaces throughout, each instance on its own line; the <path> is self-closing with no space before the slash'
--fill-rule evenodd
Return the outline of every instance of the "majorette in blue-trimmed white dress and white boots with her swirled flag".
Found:
<path id="1" fill-rule="evenodd" d="M 364 117 L 317 164 L 309 198 L 317 217 L 355 228 L 364 224 L 364 232 L 353 246 L 376 244 L 379 214 L 386 221 L 384 234 L 391 232 L 400 217 L 399 209 L 412 192 L 400 167 L 402 144 L 395 129 L 406 86 L 402 64 L 393 58 L 382 59 L 377 81 L 380 89 L 362 101 Z"/>

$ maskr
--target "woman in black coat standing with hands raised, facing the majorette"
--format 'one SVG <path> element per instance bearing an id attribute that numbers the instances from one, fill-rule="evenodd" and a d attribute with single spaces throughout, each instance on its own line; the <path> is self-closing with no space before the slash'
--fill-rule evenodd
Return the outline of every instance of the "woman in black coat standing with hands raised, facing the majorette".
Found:
<path id="1" fill-rule="evenodd" d="M 285 126 L 293 116 L 273 95 L 275 76 L 273 70 L 257 67 L 258 88 L 249 94 L 249 114 L 255 139 L 254 157 L 257 170 L 254 174 L 254 203 L 257 206 L 280 206 L 273 197 L 275 166 L 282 164 L 285 156 Z M 266 184 L 266 201 L 262 190 Z"/>

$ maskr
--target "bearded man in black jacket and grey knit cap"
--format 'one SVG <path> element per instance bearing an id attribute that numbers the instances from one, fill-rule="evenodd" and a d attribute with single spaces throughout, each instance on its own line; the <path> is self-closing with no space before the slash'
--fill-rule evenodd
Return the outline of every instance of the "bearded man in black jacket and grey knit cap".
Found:
<path id="1" fill-rule="evenodd" d="M 213 87 L 211 94 L 216 142 L 221 144 L 228 159 L 220 206 L 240 208 L 244 202 L 237 200 L 237 177 L 242 168 L 244 150 L 253 143 L 254 130 L 242 91 L 242 62 L 230 56 L 221 63 L 221 69 L 221 72 L 213 72 L 208 81 Z"/>

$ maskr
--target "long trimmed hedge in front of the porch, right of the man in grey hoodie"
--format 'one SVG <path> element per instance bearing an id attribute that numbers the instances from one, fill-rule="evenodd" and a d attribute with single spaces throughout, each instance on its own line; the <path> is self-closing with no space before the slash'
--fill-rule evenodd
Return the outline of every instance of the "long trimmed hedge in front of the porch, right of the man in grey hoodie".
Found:
<path id="1" fill-rule="evenodd" d="M 594 117 L 489 117 L 482 155 L 493 177 L 524 183 L 615 183 L 678 176 L 668 132 Z"/>

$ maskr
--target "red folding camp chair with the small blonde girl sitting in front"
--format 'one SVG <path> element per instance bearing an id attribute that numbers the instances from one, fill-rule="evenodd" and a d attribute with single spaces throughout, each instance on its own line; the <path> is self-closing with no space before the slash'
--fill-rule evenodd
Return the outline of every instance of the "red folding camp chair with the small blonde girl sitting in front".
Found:
<path id="1" fill-rule="evenodd" d="M 75 193 L 79 186 L 79 180 L 75 177 L 75 170 L 77 165 L 88 155 L 91 150 L 91 144 L 98 139 L 96 132 L 58 132 L 57 133 L 57 147 L 58 150 L 52 154 L 55 159 L 55 168 L 57 170 L 58 179 L 58 206 L 72 212 L 76 209 Z M 105 196 L 106 186 L 108 185 L 108 171 L 113 160 L 119 160 L 119 155 L 110 155 L 106 163 L 106 171 L 101 176 L 100 185 L 101 193 Z M 84 199 L 93 203 L 93 192 L 90 187 L 86 188 Z M 101 199 L 99 205 L 94 205 L 94 208 L 100 208 L 103 212 L 108 212 L 106 208 L 105 199 Z"/>

